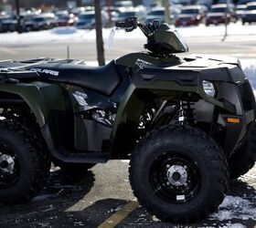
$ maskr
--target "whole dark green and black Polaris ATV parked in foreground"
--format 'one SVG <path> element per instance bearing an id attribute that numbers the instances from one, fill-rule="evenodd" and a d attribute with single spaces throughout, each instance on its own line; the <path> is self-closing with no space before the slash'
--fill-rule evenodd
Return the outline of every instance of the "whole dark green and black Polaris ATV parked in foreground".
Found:
<path id="1" fill-rule="evenodd" d="M 25 202 L 50 164 L 82 173 L 129 159 L 134 195 L 149 212 L 193 223 L 214 212 L 255 161 L 255 99 L 236 59 L 176 57 L 175 30 L 136 18 L 146 51 L 87 67 L 80 60 L 2 61 L 0 202 Z M 250 136 L 252 132 L 252 136 Z"/>

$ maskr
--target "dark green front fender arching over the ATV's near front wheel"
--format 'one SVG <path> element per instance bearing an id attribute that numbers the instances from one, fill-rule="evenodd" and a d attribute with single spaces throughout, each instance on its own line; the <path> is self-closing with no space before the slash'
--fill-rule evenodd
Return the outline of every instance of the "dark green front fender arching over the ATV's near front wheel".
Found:
<path id="1" fill-rule="evenodd" d="M 144 100 L 154 94 L 157 98 L 170 100 L 179 94 L 195 93 L 208 103 L 224 109 L 222 102 L 215 98 L 210 98 L 200 86 L 180 85 L 176 81 L 159 81 L 159 80 L 134 80 L 123 96 L 122 103 L 117 111 L 116 121 L 113 128 L 113 137 L 117 135 L 118 128 L 126 124 L 129 120 L 139 123 L 140 117 L 144 110 Z"/>

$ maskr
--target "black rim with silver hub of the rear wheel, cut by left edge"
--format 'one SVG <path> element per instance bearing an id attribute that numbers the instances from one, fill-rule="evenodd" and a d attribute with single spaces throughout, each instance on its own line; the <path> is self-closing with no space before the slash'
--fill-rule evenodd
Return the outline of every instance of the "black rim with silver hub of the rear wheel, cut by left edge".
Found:
<path id="1" fill-rule="evenodd" d="M 0 141 L 0 189 L 15 185 L 19 177 L 19 165 L 14 150 L 7 143 Z"/>

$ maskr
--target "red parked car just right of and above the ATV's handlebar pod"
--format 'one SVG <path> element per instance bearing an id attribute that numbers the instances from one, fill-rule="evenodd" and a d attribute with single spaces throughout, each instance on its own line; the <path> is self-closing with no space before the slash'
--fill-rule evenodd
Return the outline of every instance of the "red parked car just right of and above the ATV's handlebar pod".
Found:
<path id="1" fill-rule="evenodd" d="M 183 7 L 176 18 L 176 26 L 197 26 L 206 17 L 207 8 L 202 5 L 188 5 Z"/>

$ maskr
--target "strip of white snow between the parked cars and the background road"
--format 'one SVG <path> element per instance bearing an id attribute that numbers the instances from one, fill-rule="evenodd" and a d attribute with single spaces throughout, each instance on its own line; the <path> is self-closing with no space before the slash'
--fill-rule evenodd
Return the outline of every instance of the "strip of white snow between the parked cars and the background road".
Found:
<path id="1" fill-rule="evenodd" d="M 103 29 L 103 37 L 105 41 L 108 39 L 112 28 Z M 205 39 L 212 39 L 217 37 L 218 39 L 224 35 L 224 26 L 189 26 L 189 27 L 177 27 L 176 30 L 185 39 L 190 37 L 198 37 Z M 240 23 L 229 25 L 228 39 L 251 39 L 255 40 L 256 25 L 242 26 Z M 96 37 L 95 30 L 81 30 L 75 27 L 57 27 L 52 30 L 29 32 L 23 34 L 5 33 L 0 34 L 0 43 L 3 44 L 40 44 L 48 42 L 81 42 L 81 41 L 94 41 Z M 133 33 L 125 33 L 123 30 L 119 30 L 115 34 L 115 39 L 142 39 L 145 37 L 140 29 L 136 29 Z"/>

